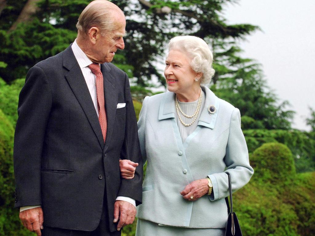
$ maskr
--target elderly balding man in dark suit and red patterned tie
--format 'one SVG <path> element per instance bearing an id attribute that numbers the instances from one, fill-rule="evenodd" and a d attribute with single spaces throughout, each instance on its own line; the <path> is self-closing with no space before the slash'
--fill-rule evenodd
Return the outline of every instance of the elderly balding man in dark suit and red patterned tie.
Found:
<path id="1" fill-rule="evenodd" d="M 124 48 L 125 25 L 115 4 L 91 2 L 72 45 L 26 76 L 14 137 L 15 207 L 37 235 L 120 235 L 134 221 L 142 198 L 137 123 L 129 79 L 110 63 Z M 133 179 L 120 177 L 120 159 L 139 163 Z"/>

